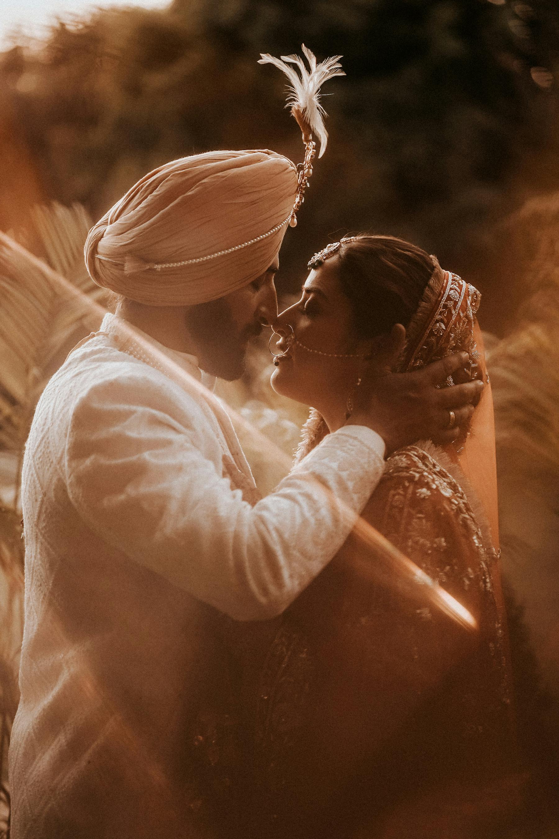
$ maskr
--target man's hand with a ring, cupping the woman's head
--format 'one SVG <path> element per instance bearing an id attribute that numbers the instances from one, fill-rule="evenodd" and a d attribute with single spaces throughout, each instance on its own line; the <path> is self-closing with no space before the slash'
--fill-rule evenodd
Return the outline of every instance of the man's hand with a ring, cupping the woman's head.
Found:
<path id="1" fill-rule="evenodd" d="M 467 362 L 468 353 L 457 352 L 422 370 L 375 377 L 348 425 L 367 425 L 376 431 L 389 454 L 417 440 L 441 444 L 455 440 L 460 426 L 466 425 L 474 414 L 484 384 L 474 381 L 452 388 L 440 385 L 448 376 L 459 379 Z"/>

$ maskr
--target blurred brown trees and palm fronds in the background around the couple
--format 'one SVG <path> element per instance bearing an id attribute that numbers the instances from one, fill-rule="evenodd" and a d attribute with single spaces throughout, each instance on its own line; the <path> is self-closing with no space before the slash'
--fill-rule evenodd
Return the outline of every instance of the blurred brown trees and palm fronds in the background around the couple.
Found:
<path id="1" fill-rule="evenodd" d="M 282 108 L 282 78 L 256 64 L 260 52 L 286 55 L 302 42 L 319 59 L 343 55 L 347 78 L 325 86 L 333 94 L 323 101 L 329 148 L 298 227 L 287 232 L 280 293 L 298 288 L 308 258 L 329 239 L 370 230 L 417 242 L 483 294 L 480 320 L 494 336 L 486 346 L 519 730 L 534 805 L 518 836 L 551 839 L 559 783 L 559 3 L 173 0 L 159 11 L 69 17 L 44 39 L 22 37 L 0 53 L 0 230 L 94 294 L 78 258 L 83 219 L 100 217 L 149 169 L 208 149 L 271 148 L 302 159 L 298 128 Z M 33 209 L 52 201 L 61 206 L 44 216 L 51 242 L 65 207 L 83 207 L 71 211 L 75 241 L 60 237 L 54 255 Z M 21 254 L 3 250 L 0 291 L 21 297 L 25 287 L 30 297 L 48 283 Z M 0 315 L 6 300 L 0 295 Z M 58 322 L 53 313 L 43 312 L 41 328 Z M 18 309 L 8 315 L 16 323 Z M 70 317 L 78 332 L 89 331 L 82 315 Z M 20 354 L 18 382 L 28 396 L 3 391 L 0 373 L 0 405 L 9 409 L 0 432 L 18 440 L 0 449 L 17 456 L 38 383 L 52 372 L 39 369 L 46 338 L 35 323 L 34 315 L 26 321 L 31 337 Z M 51 360 L 81 336 L 65 323 L 49 336 Z M 245 380 L 223 395 L 292 451 L 304 412 L 272 397 L 265 358 L 256 347 Z M 245 442 L 251 456 L 250 436 Z M 0 452 L 4 484 L 17 482 L 17 463 L 8 461 Z M 263 461 L 253 466 L 264 489 L 281 477 Z M 0 763 L 21 633 L 21 542 L 8 490 L 0 593 L 12 628 L 0 638 L 0 663 L 9 665 L 0 679 Z M 8 798 L 0 784 L 0 819 Z"/>

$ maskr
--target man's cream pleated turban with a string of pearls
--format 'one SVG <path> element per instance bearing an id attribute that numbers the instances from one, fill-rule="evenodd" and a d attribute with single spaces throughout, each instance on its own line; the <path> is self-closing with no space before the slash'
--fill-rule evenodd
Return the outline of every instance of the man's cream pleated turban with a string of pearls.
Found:
<path id="1" fill-rule="evenodd" d="M 223 297 L 273 262 L 297 185 L 291 160 L 270 151 L 209 152 L 164 164 L 91 228 L 91 279 L 153 306 Z"/>

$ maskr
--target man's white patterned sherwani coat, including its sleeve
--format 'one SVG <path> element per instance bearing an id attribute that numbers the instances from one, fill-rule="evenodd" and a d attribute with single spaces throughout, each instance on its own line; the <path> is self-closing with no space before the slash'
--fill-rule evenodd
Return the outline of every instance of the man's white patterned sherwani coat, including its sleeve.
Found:
<path id="1" fill-rule="evenodd" d="M 353 426 L 257 500 L 225 411 L 117 333 L 107 315 L 70 355 L 28 439 L 13 839 L 200 835 L 189 732 L 220 690 L 215 610 L 282 612 L 351 526 L 310 477 L 357 513 L 384 466 Z"/>

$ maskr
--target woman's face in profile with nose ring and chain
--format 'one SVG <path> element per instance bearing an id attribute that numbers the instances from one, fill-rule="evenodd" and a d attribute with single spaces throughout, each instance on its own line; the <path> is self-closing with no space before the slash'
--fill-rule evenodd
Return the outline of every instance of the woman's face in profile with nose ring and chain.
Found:
<path id="1" fill-rule="evenodd" d="M 277 330 L 283 336 L 277 352 L 287 347 L 291 329 L 296 341 L 292 341 L 286 356 L 278 359 L 272 388 L 318 410 L 335 402 L 344 405 L 359 375 L 359 358 L 333 356 L 366 352 L 355 336 L 351 304 L 340 287 L 337 265 L 338 257 L 334 256 L 313 269 L 303 285 L 301 299 L 283 311 L 277 321 Z"/>

